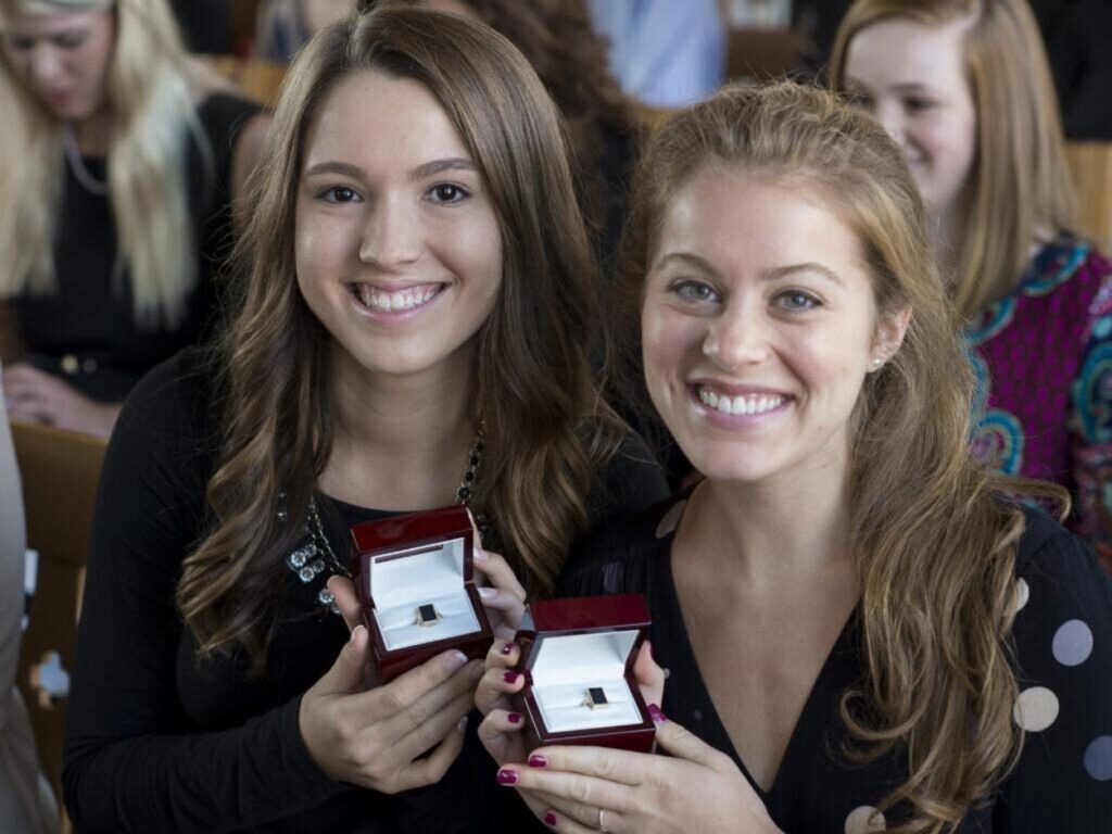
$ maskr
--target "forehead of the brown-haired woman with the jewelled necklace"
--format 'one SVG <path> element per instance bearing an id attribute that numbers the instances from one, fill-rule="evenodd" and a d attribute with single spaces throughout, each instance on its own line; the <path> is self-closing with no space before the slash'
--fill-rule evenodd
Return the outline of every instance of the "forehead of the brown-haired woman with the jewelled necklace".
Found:
<path id="1" fill-rule="evenodd" d="M 344 159 L 401 169 L 445 157 L 470 153 L 436 96 L 419 81 L 378 71 L 337 85 L 306 135 L 306 166 Z"/>

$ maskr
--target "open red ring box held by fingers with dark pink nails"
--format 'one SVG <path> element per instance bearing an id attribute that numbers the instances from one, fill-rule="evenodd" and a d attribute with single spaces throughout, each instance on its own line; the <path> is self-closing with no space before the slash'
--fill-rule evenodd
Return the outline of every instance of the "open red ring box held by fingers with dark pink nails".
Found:
<path id="1" fill-rule="evenodd" d="M 575 744 L 653 752 L 656 726 L 633 676 L 649 623 L 641 594 L 529 605 L 515 637 L 525 686 L 514 696 L 526 718 L 527 749 Z"/>

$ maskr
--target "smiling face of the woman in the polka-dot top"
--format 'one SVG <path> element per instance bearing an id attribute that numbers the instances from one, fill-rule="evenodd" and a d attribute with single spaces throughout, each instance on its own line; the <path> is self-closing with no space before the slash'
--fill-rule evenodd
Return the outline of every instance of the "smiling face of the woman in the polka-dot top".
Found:
<path id="1" fill-rule="evenodd" d="M 646 278 L 648 390 L 712 479 L 840 476 L 865 375 L 903 335 L 875 320 L 837 215 L 801 189 L 705 169 L 669 203 Z"/>

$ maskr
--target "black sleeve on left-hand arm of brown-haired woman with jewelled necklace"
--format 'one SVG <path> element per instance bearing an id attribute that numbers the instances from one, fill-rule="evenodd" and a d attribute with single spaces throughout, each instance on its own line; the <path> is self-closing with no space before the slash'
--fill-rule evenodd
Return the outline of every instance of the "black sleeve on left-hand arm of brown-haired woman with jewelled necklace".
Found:
<path id="1" fill-rule="evenodd" d="M 62 774 L 77 828 L 234 831 L 344 788 L 298 728 L 300 698 L 226 732 L 190 732 L 175 692 L 175 590 L 202 528 L 202 400 L 156 368 L 128 398 L 101 473 Z"/>

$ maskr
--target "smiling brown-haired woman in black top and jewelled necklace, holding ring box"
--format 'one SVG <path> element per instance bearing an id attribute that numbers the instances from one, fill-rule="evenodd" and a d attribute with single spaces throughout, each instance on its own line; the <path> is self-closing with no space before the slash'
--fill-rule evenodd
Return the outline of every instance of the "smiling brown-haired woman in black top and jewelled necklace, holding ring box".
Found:
<path id="1" fill-rule="evenodd" d="M 578 536 L 664 494 L 592 381 L 559 118 L 505 39 L 394 6 L 300 53 L 260 171 L 230 329 L 140 384 L 106 457 L 69 810 L 90 831 L 457 831 L 461 783 L 405 792 L 460 752 L 481 664 L 365 679 L 349 526 L 466 503 L 505 554 L 476 563 L 500 623 L 515 574 L 550 589 Z"/>

